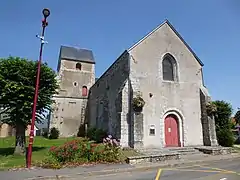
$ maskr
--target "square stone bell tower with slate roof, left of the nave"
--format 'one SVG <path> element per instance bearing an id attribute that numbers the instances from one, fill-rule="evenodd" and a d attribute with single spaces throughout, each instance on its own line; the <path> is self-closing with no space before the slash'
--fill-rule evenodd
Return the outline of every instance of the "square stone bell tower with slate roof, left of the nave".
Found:
<path id="1" fill-rule="evenodd" d="M 77 135 L 84 125 L 88 90 L 95 83 L 95 60 L 88 49 L 61 46 L 58 61 L 59 93 L 54 96 L 50 128 L 60 136 Z"/>

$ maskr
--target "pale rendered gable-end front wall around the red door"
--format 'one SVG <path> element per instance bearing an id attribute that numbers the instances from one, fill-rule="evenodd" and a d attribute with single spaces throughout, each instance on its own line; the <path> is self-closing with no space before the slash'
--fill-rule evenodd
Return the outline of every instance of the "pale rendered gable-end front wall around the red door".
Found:
<path id="1" fill-rule="evenodd" d="M 165 146 L 164 117 L 171 113 L 179 119 L 181 145 L 203 145 L 199 92 L 202 66 L 185 44 L 165 23 L 128 52 L 133 93 L 140 91 L 146 102 L 144 146 Z M 163 80 L 162 59 L 166 53 L 177 61 L 176 82 Z M 155 135 L 150 135 L 150 127 L 155 127 Z"/>

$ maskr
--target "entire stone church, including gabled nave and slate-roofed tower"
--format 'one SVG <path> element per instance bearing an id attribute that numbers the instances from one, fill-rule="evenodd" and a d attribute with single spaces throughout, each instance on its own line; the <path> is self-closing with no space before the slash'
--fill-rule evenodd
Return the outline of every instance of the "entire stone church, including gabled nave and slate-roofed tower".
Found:
<path id="1" fill-rule="evenodd" d="M 217 145 L 214 121 L 206 114 L 210 96 L 202 69 L 167 20 L 98 79 L 90 50 L 62 46 L 50 127 L 61 136 L 76 135 L 79 127 L 101 128 L 123 147 Z M 135 100 L 144 102 L 140 111 Z"/>

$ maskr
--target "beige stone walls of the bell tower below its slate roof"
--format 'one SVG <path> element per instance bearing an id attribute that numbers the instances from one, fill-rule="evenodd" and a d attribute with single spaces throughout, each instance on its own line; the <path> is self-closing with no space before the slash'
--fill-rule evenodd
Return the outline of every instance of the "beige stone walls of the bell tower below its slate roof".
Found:
<path id="1" fill-rule="evenodd" d="M 81 70 L 76 63 L 81 63 Z M 95 83 L 94 63 L 61 59 L 59 61 L 58 80 L 59 94 L 53 97 L 53 112 L 50 118 L 50 129 L 56 127 L 60 137 L 77 135 L 84 131 L 87 96 L 82 96 L 82 87 L 88 89 Z M 84 132 L 80 132 L 83 134 Z"/>

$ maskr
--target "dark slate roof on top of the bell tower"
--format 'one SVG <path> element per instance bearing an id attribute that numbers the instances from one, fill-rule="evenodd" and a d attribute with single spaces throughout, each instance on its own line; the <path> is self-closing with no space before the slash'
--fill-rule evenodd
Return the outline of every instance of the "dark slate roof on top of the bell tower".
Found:
<path id="1" fill-rule="evenodd" d="M 60 58 L 95 63 L 93 52 L 91 50 L 76 47 L 61 46 Z"/>

